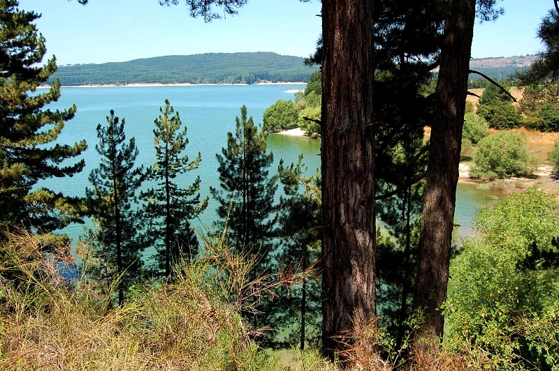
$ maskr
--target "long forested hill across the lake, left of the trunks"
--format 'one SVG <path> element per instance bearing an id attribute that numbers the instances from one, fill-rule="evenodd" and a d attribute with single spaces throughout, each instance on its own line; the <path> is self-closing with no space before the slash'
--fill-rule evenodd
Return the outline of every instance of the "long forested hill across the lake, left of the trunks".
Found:
<path id="1" fill-rule="evenodd" d="M 307 82 L 317 67 L 305 66 L 303 60 L 299 56 L 272 52 L 157 56 L 127 62 L 59 66 L 51 80 L 59 78 L 62 85 Z"/>

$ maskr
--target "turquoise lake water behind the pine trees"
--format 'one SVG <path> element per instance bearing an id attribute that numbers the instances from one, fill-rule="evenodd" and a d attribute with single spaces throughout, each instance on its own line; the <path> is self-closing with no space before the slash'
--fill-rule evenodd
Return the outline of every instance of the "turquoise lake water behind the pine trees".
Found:
<path id="1" fill-rule="evenodd" d="M 216 153 L 221 153 L 226 146 L 226 133 L 235 130 L 235 116 L 240 115 L 240 107 L 247 106 L 249 116 L 255 123 L 262 123 L 264 110 L 279 99 L 292 99 L 291 89 L 304 89 L 301 84 L 263 84 L 263 85 L 205 85 L 205 86 L 106 86 L 106 87 L 64 87 L 61 98 L 52 107 L 64 109 L 75 104 L 78 112 L 75 118 L 66 123 L 59 136 L 59 142 L 72 144 L 86 139 L 89 148 L 82 154 L 86 167 L 81 174 L 73 178 L 50 179 L 41 183 L 52 190 L 63 191 L 66 195 L 82 196 L 89 187 L 87 177 L 99 164 L 99 155 L 95 144 L 96 126 L 105 124 L 110 109 L 115 115 L 126 121 L 126 137 L 136 138 L 139 150 L 138 164 L 152 165 L 155 160 L 153 128 L 154 119 L 159 116 L 159 107 L 164 100 L 170 100 L 179 112 L 184 126 L 187 126 L 189 144 L 187 154 L 195 158 L 198 151 L 202 161 L 198 169 L 188 172 L 177 183 L 189 185 L 196 176 L 201 178 L 201 196 L 210 194 L 210 185 L 219 187 Z M 41 91 L 41 89 L 39 89 Z M 296 162 L 300 153 L 308 171 L 320 167 L 320 142 L 307 137 L 290 137 L 271 134 L 268 136 L 268 150 L 274 154 L 272 171 L 277 171 L 279 159 L 289 165 Z M 145 185 L 147 187 L 147 185 Z M 279 198 L 279 192 L 277 197 Z M 495 190 L 480 190 L 477 185 L 459 184 L 456 192 L 456 222 L 461 225 L 459 234 L 472 234 L 470 222 L 474 215 L 502 197 Z M 216 218 L 217 202 L 211 199 L 208 209 L 195 222 L 196 227 L 211 227 Z M 91 225 L 90 222 L 88 222 Z M 71 225 L 64 229 L 69 236 L 76 238 L 83 234 L 82 225 Z"/>

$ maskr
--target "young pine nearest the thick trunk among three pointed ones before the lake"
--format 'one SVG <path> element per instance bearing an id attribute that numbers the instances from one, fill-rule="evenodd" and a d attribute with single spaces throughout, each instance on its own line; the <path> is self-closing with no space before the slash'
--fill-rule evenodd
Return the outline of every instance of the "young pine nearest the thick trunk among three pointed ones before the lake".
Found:
<path id="1" fill-rule="evenodd" d="M 221 190 L 210 187 L 212 196 L 219 202 L 218 227 L 226 227 L 228 243 L 236 254 L 254 259 L 256 264 L 248 273 L 249 281 L 262 273 L 272 273 L 270 258 L 274 245 L 275 222 L 273 215 L 277 177 L 269 176 L 268 169 L 273 154 L 266 153 L 266 134 L 247 119 L 247 107 L 241 107 L 235 134 L 227 133 L 227 147 L 217 154 Z M 254 328 L 270 324 L 270 307 L 266 298 L 257 305 L 258 315 L 243 313 Z"/>

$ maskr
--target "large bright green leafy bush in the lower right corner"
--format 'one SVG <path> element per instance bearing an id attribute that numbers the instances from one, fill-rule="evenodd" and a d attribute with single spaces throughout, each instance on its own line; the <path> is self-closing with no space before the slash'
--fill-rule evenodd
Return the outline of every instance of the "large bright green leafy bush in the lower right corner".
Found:
<path id="1" fill-rule="evenodd" d="M 447 347 L 493 369 L 551 370 L 559 365 L 556 267 L 525 262 L 551 243 L 559 222 L 556 200 L 539 188 L 502 199 L 474 220 L 477 237 L 451 262 L 445 304 Z M 543 263 L 542 261 L 540 261 Z"/>

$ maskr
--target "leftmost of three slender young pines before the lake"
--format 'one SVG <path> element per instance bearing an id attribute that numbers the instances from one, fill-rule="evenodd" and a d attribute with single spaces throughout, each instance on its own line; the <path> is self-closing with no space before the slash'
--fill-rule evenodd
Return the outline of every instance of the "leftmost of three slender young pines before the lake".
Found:
<path id="1" fill-rule="evenodd" d="M 94 245 L 101 265 L 96 267 L 96 276 L 106 287 L 118 280 L 121 306 L 126 287 L 138 280 L 143 266 L 138 212 L 132 205 L 136 203 L 136 191 L 147 176 L 143 167 L 134 167 L 138 149 L 134 138 L 125 143 L 124 125 L 124 119 L 119 121 L 111 109 L 107 125 L 97 126 L 99 144 L 95 149 L 101 155 L 101 163 L 89 174 L 93 188 L 85 190 L 90 213 L 98 227 Z"/>

